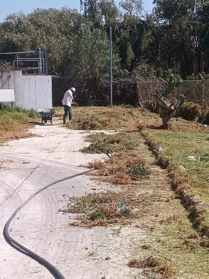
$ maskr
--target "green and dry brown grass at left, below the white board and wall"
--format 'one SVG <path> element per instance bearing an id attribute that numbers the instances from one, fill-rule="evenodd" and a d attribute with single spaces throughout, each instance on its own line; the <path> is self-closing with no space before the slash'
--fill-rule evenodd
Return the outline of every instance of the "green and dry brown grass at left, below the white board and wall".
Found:
<path id="1" fill-rule="evenodd" d="M 23 111 L 27 112 L 30 117 L 34 116 L 37 118 L 34 111 Z M 35 134 L 28 133 L 28 128 L 33 127 L 33 124 L 30 124 L 28 121 L 28 115 L 23 112 L 12 112 L 10 107 L 3 105 L 3 109 L 0 111 L 0 143 L 36 136 Z"/>

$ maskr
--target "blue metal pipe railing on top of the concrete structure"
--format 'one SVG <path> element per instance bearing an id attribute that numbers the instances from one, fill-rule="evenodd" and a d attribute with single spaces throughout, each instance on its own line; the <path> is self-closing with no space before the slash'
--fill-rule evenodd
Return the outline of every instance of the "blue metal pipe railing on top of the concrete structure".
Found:
<path id="1" fill-rule="evenodd" d="M 35 58 L 20 58 L 19 55 L 24 54 L 38 54 L 38 57 Z M 44 53 L 44 58 L 41 57 L 41 53 Z M 16 58 L 12 60 L 12 66 L 14 70 L 36 70 L 38 71 L 39 76 L 48 76 L 48 50 L 47 49 L 34 49 L 33 51 L 21 51 L 21 52 L 5 52 L 0 53 L 0 55 L 16 55 Z M 1 56 L 0 56 L 1 58 Z M 37 63 L 36 67 L 22 67 L 23 62 L 35 62 Z M 21 65 L 20 65 L 21 64 Z"/>

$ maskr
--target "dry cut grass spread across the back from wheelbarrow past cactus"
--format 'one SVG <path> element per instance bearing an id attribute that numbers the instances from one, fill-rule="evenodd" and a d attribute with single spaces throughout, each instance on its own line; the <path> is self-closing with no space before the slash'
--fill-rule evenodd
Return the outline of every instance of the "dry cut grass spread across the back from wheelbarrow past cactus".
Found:
<path id="1" fill-rule="evenodd" d="M 72 107 L 73 120 L 66 128 L 75 130 L 123 130 L 136 131 L 144 127 L 162 129 L 162 119 L 158 114 L 151 113 L 145 108 L 132 108 L 125 106 L 110 107 L 83 107 L 81 112 Z M 64 109 L 55 107 L 54 116 L 62 117 Z M 181 118 L 173 118 L 171 131 L 202 132 L 204 126 Z"/>

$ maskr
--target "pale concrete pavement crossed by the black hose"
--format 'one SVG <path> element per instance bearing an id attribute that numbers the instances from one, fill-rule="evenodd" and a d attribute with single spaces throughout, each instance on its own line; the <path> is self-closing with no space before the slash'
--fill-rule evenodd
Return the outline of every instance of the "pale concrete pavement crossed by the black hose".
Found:
<path id="1" fill-rule="evenodd" d="M 0 146 L 0 159 L 13 160 L 3 163 L 0 169 L 0 279 L 54 278 L 44 266 L 8 245 L 2 235 L 3 227 L 16 208 L 37 189 L 83 171 L 84 168 L 78 167 L 80 164 L 107 159 L 104 154 L 78 151 L 88 144 L 82 131 L 69 130 L 57 123 L 36 125 L 30 132 L 41 137 Z M 146 237 L 142 230 L 123 227 L 117 233 L 119 228 L 70 227 L 69 215 L 58 212 L 67 203 L 63 194 L 79 196 L 93 192 L 91 188 L 108 187 L 89 176 L 53 185 L 20 210 L 10 225 L 10 234 L 51 262 L 66 279 L 131 278 L 136 271 L 125 264 L 136 256 L 136 245 Z M 110 260 L 105 260 L 106 257 Z"/>

